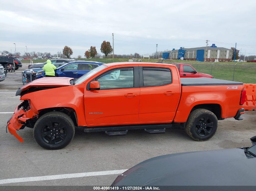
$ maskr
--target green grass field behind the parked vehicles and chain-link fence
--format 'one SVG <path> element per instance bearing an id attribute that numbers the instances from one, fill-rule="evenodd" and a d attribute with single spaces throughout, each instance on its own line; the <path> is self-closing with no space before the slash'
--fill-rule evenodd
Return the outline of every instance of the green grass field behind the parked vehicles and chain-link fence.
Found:
<path id="1" fill-rule="evenodd" d="M 111 62 L 128 62 L 129 59 L 78 59 L 86 61 L 96 61 L 103 63 Z M 142 62 L 158 62 L 160 59 L 141 59 Z M 46 62 L 46 59 L 33 60 L 33 63 Z M 30 63 L 30 60 L 22 60 L 22 63 Z M 163 63 L 186 63 L 191 64 L 198 72 L 210 74 L 214 78 L 223 80 L 241 81 L 244 83 L 256 84 L 256 63 L 255 62 L 238 62 L 234 67 L 234 62 L 198 62 L 188 60 L 164 60 Z M 235 72 L 234 72 L 235 71 Z"/>

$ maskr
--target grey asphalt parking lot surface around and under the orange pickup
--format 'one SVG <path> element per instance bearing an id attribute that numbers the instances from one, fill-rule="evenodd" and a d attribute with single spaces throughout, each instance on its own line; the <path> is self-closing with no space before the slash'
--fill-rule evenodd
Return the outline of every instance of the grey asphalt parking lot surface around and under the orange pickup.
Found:
<path id="1" fill-rule="evenodd" d="M 178 152 L 246 147 L 251 145 L 249 138 L 256 135 L 256 111 L 247 111 L 242 121 L 233 118 L 219 121 L 214 138 L 206 142 L 192 140 L 181 129 L 167 129 L 164 134 L 134 130 L 128 131 L 125 136 L 76 130 L 73 141 L 67 147 L 50 151 L 35 142 L 32 129 L 25 128 L 18 132 L 24 139 L 21 143 L 5 132 L 5 126 L 20 103 L 15 92 L 22 86 L 21 71 L 27 65 L 23 63 L 23 68 L 14 73 L 8 72 L 5 81 L 0 82 L 0 184 L 109 186 L 119 173 L 148 158 Z M 72 175 L 65 178 L 61 176 L 63 174 Z M 51 175 L 57 175 L 59 179 L 52 180 L 56 177 L 49 177 Z M 39 176 L 48 178 L 35 178 Z M 6 179 L 15 180 L 12 183 Z"/>

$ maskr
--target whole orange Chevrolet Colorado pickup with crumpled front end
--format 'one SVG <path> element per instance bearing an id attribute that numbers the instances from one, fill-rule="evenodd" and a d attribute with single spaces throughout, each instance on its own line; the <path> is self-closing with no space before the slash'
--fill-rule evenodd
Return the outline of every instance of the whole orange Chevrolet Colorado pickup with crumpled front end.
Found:
<path id="1" fill-rule="evenodd" d="M 78 79 L 41 78 L 18 89 L 23 102 L 7 128 L 34 129 L 36 142 L 60 149 L 75 128 L 124 135 L 131 129 L 149 133 L 181 126 L 196 141 L 211 138 L 218 120 L 242 120 L 244 84 L 212 78 L 180 78 L 175 65 L 120 62 L 101 65 Z"/>

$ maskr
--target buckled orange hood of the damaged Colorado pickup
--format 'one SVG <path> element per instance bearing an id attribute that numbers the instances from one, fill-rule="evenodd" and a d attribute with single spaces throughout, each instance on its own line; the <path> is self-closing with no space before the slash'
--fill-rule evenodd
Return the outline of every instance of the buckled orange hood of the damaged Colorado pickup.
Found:
<path id="1" fill-rule="evenodd" d="M 66 77 L 45 77 L 40 78 L 37 80 L 34 80 L 32 82 L 29 82 L 28 84 L 25 84 L 24 86 L 20 87 L 18 91 L 16 92 L 16 96 L 21 95 L 22 92 L 29 90 L 32 87 L 40 88 L 41 90 L 46 88 L 58 88 L 63 86 L 71 86 L 70 80 L 73 78 L 66 78 Z M 29 93 L 29 91 L 27 92 Z"/>

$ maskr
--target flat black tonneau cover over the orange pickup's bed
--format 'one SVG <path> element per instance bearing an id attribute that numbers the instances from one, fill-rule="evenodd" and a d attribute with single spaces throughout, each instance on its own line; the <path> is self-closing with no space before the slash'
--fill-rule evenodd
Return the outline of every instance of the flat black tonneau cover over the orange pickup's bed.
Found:
<path id="1" fill-rule="evenodd" d="M 182 86 L 202 86 L 202 85 L 242 85 L 242 82 L 220 80 L 215 78 L 181 78 Z"/>

